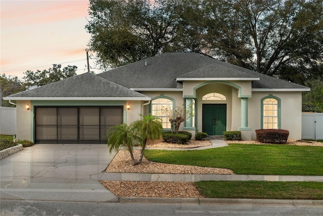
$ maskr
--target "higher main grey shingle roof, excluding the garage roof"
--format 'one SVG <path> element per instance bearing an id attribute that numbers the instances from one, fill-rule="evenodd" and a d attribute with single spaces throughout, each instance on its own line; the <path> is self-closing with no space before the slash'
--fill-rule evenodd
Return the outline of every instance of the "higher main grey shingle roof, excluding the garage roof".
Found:
<path id="1" fill-rule="evenodd" d="M 259 80 L 252 81 L 252 88 L 308 89 L 196 53 L 164 53 L 100 73 L 98 76 L 133 89 L 181 89 L 182 82 L 176 81 L 179 77 L 259 77 Z"/>

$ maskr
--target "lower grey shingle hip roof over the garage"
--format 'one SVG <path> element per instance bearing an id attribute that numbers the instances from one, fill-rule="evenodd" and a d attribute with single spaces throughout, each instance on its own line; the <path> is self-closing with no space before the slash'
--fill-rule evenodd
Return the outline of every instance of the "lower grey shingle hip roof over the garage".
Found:
<path id="1" fill-rule="evenodd" d="M 37 89 L 17 93 L 7 98 L 149 98 L 92 73 L 83 73 L 68 79 L 43 85 Z"/>

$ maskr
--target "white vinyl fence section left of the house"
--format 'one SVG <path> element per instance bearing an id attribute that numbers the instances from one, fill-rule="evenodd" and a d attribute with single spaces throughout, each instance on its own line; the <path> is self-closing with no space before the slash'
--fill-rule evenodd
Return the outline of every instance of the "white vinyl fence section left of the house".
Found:
<path id="1" fill-rule="evenodd" d="M 0 134 L 16 134 L 16 107 L 0 107 Z"/>

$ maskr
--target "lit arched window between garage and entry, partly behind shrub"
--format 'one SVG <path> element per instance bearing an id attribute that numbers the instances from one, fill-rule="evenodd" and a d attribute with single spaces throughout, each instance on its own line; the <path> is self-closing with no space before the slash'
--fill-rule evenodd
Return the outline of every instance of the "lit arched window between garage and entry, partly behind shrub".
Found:
<path id="1" fill-rule="evenodd" d="M 157 98 L 151 102 L 151 114 L 161 119 L 164 129 L 171 129 L 169 118 L 161 112 L 165 108 L 173 109 L 173 102 L 167 98 Z"/>

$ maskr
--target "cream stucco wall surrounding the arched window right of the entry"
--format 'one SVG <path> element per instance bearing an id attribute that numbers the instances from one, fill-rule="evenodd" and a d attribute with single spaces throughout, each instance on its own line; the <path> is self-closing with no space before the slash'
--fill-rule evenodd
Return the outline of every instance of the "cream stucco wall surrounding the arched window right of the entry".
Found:
<path id="1" fill-rule="evenodd" d="M 252 129 L 252 139 L 256 139 L 255 130 L 261 128 L 261 99 L 270 94 L 281 99 L 281 129 L 289 131 L 288 139 L 301 139 L 301 92 L 253 92 L 252 98 L 248 99 L 248 122 Z"/>

